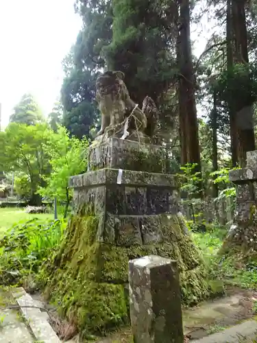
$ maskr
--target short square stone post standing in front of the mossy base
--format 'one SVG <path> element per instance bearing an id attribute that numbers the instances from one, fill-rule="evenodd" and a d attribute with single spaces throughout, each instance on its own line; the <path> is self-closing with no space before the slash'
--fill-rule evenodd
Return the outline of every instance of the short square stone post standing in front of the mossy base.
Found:
<path id="1" fill-rule="evenodd" d="M 145 256 L 129 262 L 134 343 L 183 343 L 177 262 Z"/>

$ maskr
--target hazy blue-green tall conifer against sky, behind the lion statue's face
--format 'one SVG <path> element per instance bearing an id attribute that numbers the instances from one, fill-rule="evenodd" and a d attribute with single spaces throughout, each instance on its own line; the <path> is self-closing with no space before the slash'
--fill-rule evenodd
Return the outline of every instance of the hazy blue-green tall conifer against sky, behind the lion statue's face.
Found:
<path id="1" fill-rule="evenodd" d="M 78 0 L 76 7 L 84 27 L 64 58 L 61 93 L 63 124 L 72 135 L 82 138 L 90 136 L 91 130 L 99 126 L 95 82 L 99 70 L 105 67 L 101 49 L 112 38 L 112 7 L 110 0 Z"/>

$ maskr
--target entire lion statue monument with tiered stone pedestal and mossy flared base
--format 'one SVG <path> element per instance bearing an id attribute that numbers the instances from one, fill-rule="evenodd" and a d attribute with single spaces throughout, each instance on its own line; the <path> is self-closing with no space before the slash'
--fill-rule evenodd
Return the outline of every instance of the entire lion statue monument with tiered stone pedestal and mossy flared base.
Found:
<path id="1" fill-rule="evenodd" d="M 210 292 L 204 263 L 179 211 L 176 177 L 167 172 L 163 147 L 154 144 L 156 107 L 152 101 L 147 105 L 147 98 L 142 113 L 118 75 L 105 73 L 97 82 L 103 133 L 88 150 L 88 171 L 70 180 L 73 216 L 45 270 L 46 294 L 85 335 L 127 322 L 124 289 L 131 259 L 160 255 L 178 261 L 186 305 Z M 145 120 L 138 123 L 144 116 L 147 127 Z"/>

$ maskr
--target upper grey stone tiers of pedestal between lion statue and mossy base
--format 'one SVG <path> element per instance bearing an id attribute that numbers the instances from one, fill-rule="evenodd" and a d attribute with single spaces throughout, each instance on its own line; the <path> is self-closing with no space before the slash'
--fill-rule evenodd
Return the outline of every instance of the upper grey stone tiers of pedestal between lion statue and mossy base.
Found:
<path id="1" fill-rule="evenodd" d="M 101 163 L 104 169 L 97 169 Z M 87 204 L 99 215 L 99 241 L 117 246 L 167 241 L 167 220 L 179 211 L 178 187 L 174 175 L 149 172 L 162 171 L 164 164 L 158 146 L 112 138 L 90 148 L 88 169 L 95 171 L 73 176 L 70 187 L 77 211 Z"/>

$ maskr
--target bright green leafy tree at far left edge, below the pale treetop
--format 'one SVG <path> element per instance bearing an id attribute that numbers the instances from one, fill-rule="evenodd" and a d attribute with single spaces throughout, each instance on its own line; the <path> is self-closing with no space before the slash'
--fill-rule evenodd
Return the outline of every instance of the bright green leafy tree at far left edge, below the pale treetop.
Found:
<path id="1" fill-rule="evenodd" d="M 53 131 L 46 123 L 34 126 L 10 123 L 0 134 L 0 166 L 4 171 L 15 171 L 27 178 L 32 202 L 40 202 L 35 196 L 38 186 L 44 185 L 43 177 L 49 174 L 49 154 L 45 149 Z M 26 187 L 27 188 L 27 187 Z"/>

